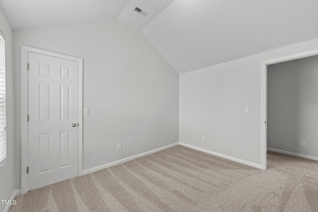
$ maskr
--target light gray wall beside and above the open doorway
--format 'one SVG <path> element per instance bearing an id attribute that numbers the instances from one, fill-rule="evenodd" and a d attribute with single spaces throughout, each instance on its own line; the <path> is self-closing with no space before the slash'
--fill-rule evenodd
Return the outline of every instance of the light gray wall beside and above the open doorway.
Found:
<path id="1" fill-rule="evenodd" d="M 261 62 L 313 49 L 318 39 L 180 74 L 179 141 L 260 165 Z"/>

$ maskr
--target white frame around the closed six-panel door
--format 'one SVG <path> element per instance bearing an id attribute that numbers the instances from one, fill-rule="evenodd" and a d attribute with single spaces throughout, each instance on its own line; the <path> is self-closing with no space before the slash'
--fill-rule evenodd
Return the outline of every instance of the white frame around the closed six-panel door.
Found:
<path id="1" fill-rule="evenodd" d="M 78 135 L 78 176 L 82 175 L 82 114 L 83 114 L 83 59 L 29 46 L 21 45 L 21 194 L 28 192 L 28 53 L 37 53 L 56 58 L 62 58 L 79 63 L 79 135 Z"/>

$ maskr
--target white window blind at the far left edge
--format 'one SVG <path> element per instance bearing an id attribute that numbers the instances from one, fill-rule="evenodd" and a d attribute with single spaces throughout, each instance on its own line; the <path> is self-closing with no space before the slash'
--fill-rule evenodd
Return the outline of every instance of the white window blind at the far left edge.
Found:
<path id="1" fill-rule="evenodd" d="M 5 45 L 0 33 L 0 168 L 6 162 L 6 117 L 5 117 Z"/>

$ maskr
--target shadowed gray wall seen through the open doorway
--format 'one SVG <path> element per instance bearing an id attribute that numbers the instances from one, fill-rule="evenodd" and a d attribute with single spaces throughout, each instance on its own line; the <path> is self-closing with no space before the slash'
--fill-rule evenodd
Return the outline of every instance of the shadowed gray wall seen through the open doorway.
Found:
<path id="1" fill-rule="evenodd" d="M 268 148 L 318 157 L 317 96 L 318 56 L 267 67 Z"/>

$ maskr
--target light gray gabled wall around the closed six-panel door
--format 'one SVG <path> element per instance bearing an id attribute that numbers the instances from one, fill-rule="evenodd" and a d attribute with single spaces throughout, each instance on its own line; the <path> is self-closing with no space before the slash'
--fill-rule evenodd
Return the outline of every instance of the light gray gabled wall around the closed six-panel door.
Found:
<path id="1" fill-rule="evenodd" d="M 13 31 L 13 38 L 16 81 L 21 45 L 83 59 L 84 170 L 178 142 L 179 74 L 140 31 L 109 20 Z"/>

